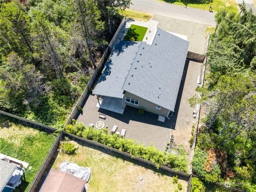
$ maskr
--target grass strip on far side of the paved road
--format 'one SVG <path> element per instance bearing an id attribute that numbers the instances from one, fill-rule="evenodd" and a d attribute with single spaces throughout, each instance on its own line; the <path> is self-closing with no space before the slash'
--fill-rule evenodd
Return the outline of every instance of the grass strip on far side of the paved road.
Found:
<path id="1" fill-rule="evenodd" d="M 162 2 L 173 3 L 175 5 L 182 5 L 193 7 L 195 9 L 209 10 L 210 6 L 213 6 L 213 11 L 217 12 L 221 9 L 228 9 L 228 11 L 238 12 L 238 7 L 235 0 L 213 0 L 212 3 L 198 3 L 197 1 L 190 0 L 159 0 Z"/>

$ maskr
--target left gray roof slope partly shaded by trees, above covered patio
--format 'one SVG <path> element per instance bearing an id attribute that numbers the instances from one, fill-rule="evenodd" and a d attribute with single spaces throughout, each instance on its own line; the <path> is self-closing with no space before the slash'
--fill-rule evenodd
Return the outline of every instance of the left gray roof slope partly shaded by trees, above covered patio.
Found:
<path id="1" fill-rule="evenodd" d="M 141 42 L 121 41 L 114 46 L 93 94 L 123 98 L 122 86 L 140 44 Z"/>

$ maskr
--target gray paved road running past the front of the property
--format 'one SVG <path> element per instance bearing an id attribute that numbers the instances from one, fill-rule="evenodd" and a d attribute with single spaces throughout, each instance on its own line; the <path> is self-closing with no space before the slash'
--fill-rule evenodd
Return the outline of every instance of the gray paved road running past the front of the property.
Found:
<path id="1" fill-rule="evenodd" d="M 155 0 L 132 0 L 132 3 L 133 5 L 130 6 L 131 9 L 215 26 L 215 13 L 209 11 L 193 9 L 190 7 L 187 7 L 186 9 L 185 6 L 158 2 Z"/>

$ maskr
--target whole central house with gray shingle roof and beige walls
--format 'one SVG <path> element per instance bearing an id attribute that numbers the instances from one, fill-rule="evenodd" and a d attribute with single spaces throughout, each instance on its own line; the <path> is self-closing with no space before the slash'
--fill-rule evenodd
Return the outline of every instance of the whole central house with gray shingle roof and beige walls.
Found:
<path id="1" fill-rule="evenodd" d="M 123 114 L 125 106 L 167 117 L 174 111 L 189 42 L 157 29 L 153 41 L 113 47 L 93 94 L 97 106 Z"/>

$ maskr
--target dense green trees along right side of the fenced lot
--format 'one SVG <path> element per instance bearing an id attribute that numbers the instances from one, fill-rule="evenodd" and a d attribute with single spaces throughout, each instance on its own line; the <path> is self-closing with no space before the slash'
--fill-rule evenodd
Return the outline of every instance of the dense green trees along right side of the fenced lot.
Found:
<path id="1" fill-rule="evenodd" d="M 215 21 L 202 97 L 189 100 L 204 109 L 193 169 L 206 183 L 256 191 L 256 15 L 241 5 Z"/>

